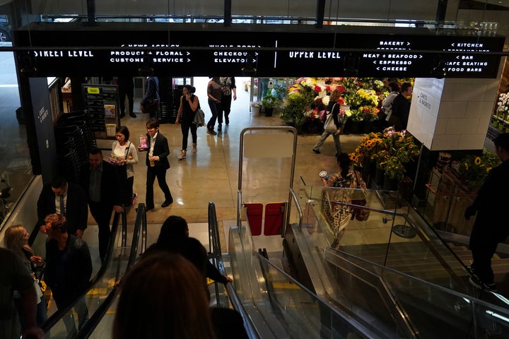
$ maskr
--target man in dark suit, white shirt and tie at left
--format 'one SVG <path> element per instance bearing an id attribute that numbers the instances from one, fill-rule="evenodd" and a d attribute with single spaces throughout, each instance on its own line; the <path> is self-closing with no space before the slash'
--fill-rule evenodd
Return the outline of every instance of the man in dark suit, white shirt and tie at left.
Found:
<path id="1" fill-rule="evenodd" d="M 85 191 L 81 186 L 56 177 L 51 184 L 42 187 L 37 201 L 37 220 L 42 233 L 46 233 L 45 218 L 59 213 L 67 218 L 67 232 L 83 237 L 88 222 L 88 205 Z"/>

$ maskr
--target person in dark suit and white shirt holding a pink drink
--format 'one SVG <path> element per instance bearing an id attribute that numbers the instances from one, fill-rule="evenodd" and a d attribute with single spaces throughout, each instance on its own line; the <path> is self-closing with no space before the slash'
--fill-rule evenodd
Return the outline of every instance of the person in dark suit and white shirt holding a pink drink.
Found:
<path id="1" fill-rule="evenodd" d="M 154 208 L 153 202 L 153 183 L 158 179 L 158 184 L 165 195 L 165 201 L 161 207 L 169 206 L 173 203 L 170 188 L 166 184 L 166 170 L 170 168 L 168 155 L 168 139 L 159 133 L 159 121 L 156 118 L 149 119 L 146 123 L 147 145 L 148 148 L 139 148 L 140 151 L 146 151 L 147 181 L 146 181 L 146 210 Z"/>

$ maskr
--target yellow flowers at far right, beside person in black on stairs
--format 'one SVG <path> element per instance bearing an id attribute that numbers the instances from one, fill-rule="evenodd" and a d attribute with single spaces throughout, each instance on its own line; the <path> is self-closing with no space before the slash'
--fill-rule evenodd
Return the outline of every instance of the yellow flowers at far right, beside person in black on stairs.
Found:
<path id="1" fill-rule="evenodd" d="M 498 157 L 484 149 L 482 155 L 467 155 L 464 157 L 460 161 L 458 172 L 470 189 L 476 189 L 484 182 L 488 172 L 499 164 Z"/>

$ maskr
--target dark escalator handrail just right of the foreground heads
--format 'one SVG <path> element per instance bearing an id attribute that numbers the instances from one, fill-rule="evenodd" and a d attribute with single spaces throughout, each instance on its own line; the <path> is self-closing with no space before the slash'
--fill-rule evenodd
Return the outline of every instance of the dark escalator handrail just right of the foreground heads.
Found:
<path id="1" fill-rule="evenodd" d="M 213 259 L 214 263 L 216 264 L 216 267 L 219 269 L 219 272 L 221 272 L 222 275 L 226 275 L 226 270 L 224 268 L 223 263 L 223 255 L 221 254 L 221 242 L 219 241 L 219 230 L 218 230 L 218 222 L 216 217 L 216 205 L 213 202 L 209 202 L 209 234 L 211 234 L 212 238 L 212 253 L 214 254 Z M 216 283 L 216 297 L 218 297 L 217 292 L 217 283 Z M 252 339 L 259 339 L 262 338 L 262 336 L 257 331 L 257 328 L 253 325 L 252 320 L 250 319 L 250 316 L 247 314 L 247 311 L 244 308 L 244 305 L 242 305 L 242 302 L 240 302 L 240 298 L 237 295 L 237 292 L 235 291 L 235 288 L 233 287 L 232 283 L 228 282 L 226 283 L 226 292 L 228 292 L 228 299 L 230 299 L 230 303 L 233 306 L 233 309 L 235 311 L 238 311 L 240 313 L 240 316 L 242 316 L 242 319 L 244 321 L 244 328 L 247 332 L 247 335 Z"/>

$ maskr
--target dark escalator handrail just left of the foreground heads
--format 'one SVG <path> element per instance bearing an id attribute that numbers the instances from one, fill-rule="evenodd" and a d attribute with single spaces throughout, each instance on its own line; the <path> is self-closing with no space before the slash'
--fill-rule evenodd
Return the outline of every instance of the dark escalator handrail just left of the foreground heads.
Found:
<path id="1" fill-rule="evenodd" d="M 134 266 L 136 256 L 138 255 L 138 244 L 140 233 L 146 237 L 146 232 L 142 232 L 143 228 L 146 228 L 146 211 L 144 203 L 140 203 L 136 210 L 136 221 L 134 222 L 133 239 L 131 242 L 131 251 L 129 252 L 129 260 L 127 261 L 127 268 L 124 275 Z M 142 245 L 143 247 L 143 245 Z M 95 328 L 98 326 L 107 310 L 110 309 L 112 303 L 115 301 L 115 297 L 119 292 L 119 285 L 115 285 L 113 290 L 107 295 L 106 299 L 99 305 L 98 309 L 90 316 L 90 319 L 83 325 L 78 331 L 74 339 L 84 339 L 92 335 Z"/>

